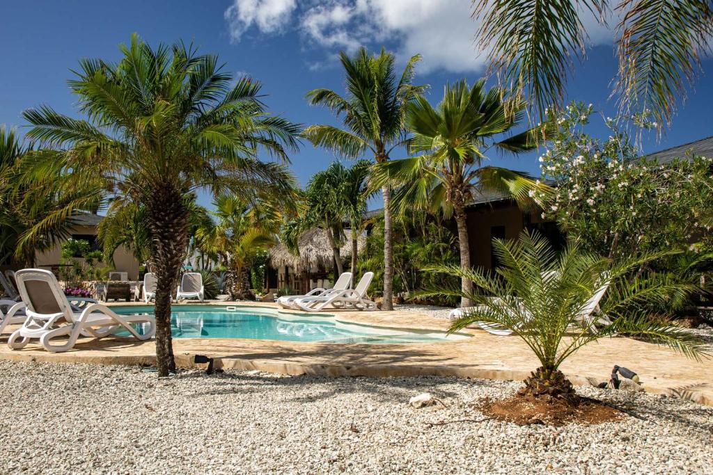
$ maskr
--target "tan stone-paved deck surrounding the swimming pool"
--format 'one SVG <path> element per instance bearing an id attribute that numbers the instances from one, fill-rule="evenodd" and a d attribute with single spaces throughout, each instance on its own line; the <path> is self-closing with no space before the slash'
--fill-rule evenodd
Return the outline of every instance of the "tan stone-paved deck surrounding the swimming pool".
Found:
<path id="1" fill-rule="evenodd" d="M 277 308 L 271 303 L 217 304 Z M 292 312 L 288 310 L 285 313 Z M 416 312 L 329 310 L 329 315 L 334 315 L 343 323 L 381 328 L 445 331 L 448 327 L 446 320 Z M 9 329 L 6 329 L 6 333 L 0 335 L 0 343 L 7 341 L 8 332 Z M 522 380 L 538 366 L 538 360 L 520 338 L 498 337 L 481 330 L 467 330 L 467 333 L 471 336 L 462 340 L 396 345 L 176 338 L 173 348 L 177 364 L 183 367 L 193 366 L 194 355 L 207 355 L 216 357 L 219 360 L 217 365 L 224 368 L 285 375 L 437 375 Z M 0 359 L 152 365 L 155 363 L 154 349 L 153 340 L 84 338 L 66 353 L 49 353 L 37 343 L 31 343 L 23 350 L 11 350 L 7 345 L 0 344 Z M 637 372 L 644 389 L 649 392 L 684 397 L 713 406 L 713 359 L 697 362 L 651 343 L 630 338 L 598 340 L 570 357 L 561 369 L 575 385 L 596 385 L 608 380 L 614 365 Z"/>

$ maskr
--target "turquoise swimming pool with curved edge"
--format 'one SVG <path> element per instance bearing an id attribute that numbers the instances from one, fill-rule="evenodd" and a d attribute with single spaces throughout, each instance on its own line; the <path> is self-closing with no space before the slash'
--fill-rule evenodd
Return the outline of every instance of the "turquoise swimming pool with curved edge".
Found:
<path id="1" fill-rule="evenodd" d="M 122 315 L 153 314 L 153 306 L 112 306 L 111 309 Z M 280 314 L 270 308 L 175 305 L 171 310 L 171 333 L 174 338 L 251 338 L 332 343 L 419 343 L 462 338 L 458 335 L 446 336 L 444 333 L 345 324 L 326 314 Z"/>

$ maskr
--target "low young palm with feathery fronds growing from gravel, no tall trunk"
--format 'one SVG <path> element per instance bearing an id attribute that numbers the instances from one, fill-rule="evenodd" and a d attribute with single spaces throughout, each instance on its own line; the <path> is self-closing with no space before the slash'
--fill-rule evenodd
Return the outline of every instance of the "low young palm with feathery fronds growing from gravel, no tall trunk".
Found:
<path id="1" fill-rule="evenodd" d="M 578 397 L 560 366 L 588 343 L 613 335 L 637 335 L 695 359 L 706 355 L 704 343 L 694 335 L 650 319 L 643 308 L 647 302 L 664 302 L 694 291 L 689 283 L 677 283 L 666 276 L 631 277 L 632 271 L 661 254 L 612 264 L 582 251 L 576 242 L 558 254 L 545 238 L 528 231 L 523 231 L 518 241 L 496 239 L 494 246 L 502 263 L 495 273 L 459 266 L 431 270 L 476 284 L 467 294 L 474 306 L 464 309 L 449 332 L 474 323 L 503 327 L 522 338 L 538 357 L 540 367 L 518 394 L 549 395 L 577 404 Z M 606 291 L 599 311 L 590 315 L 588 307 L 593 306 L 593 298 L 603 286 Z M 463 296 L 456 288 L 424 293 Z"/>

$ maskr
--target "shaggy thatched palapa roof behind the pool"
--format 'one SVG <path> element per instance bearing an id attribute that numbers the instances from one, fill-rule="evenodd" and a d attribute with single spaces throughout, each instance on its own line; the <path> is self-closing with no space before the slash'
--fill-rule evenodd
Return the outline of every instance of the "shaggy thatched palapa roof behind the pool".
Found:
<path id="1" fill-rule="evenodd" d="M 340 249 L 342 258 L 352 256 L 352 232 L 350 229 L 345 229 L 344 245 Z M 366 242 L 365 236 L 359 236 L 356 241 L 356 249 L 364 248 Z M 319 266 L 323 268 L 332 268 L 332 247 L 329 246 L 327 239 L 327 231 L 324 229 L 313 228 L 305 231 L 299 236 L 299 256 L 290 253 L 283 243 L 270 249 L 270 262 L 273 267 L 289 266 L 294 271 L 302 272 L 308 268 L 316 269 Z"/>

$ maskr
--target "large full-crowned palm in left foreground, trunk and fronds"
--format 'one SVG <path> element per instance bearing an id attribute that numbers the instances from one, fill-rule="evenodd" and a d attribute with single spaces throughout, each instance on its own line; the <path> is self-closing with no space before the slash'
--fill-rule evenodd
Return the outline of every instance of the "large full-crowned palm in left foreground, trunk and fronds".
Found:
<path id="1" fill-rule="evenodd" d="M 269 115 L 260 83 L 232 76 L 217 57 L 175 43 L 150 48 L 133 35 L 116 64 L 84 59 L 69 81 L 78 120 L 47 106 L 27 110 L 28 137 L 46 146 L 34 155 L 37 174 L 72 170 L 72 183 L 101 182 L 146 208 L 153 242 L 158 374 L 175 370 L 170 301 L 188 245 L 184 197 L 196 189 L 220 194 L 255 188 L 292 193 L 294 178 L 277 162 L 296 150 L 299 127 Z"/>

